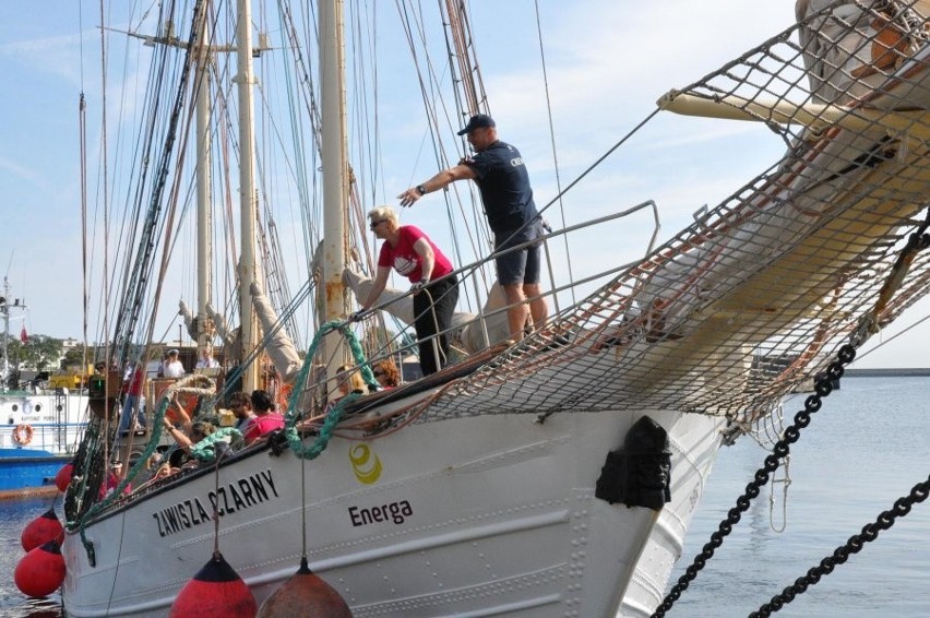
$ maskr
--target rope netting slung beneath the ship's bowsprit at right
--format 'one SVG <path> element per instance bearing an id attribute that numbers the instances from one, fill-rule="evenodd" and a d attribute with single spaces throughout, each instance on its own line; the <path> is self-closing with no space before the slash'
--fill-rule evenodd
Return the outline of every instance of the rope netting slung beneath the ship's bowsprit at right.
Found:
<path id="1" fill-rule="evenodd" d="M 927 21 L 919 2 L 821 4 L 661 102 L 765 122 L 784 157 L 547 331 L 412 408 L 417 421 L 624 407 L 751 421 L 927 294 Z"/>

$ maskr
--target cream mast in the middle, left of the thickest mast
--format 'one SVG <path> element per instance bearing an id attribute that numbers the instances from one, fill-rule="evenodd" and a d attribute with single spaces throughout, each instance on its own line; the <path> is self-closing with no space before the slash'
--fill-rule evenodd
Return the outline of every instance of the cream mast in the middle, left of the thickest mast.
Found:
<path id="1" fill-rule="evenodd" d="M 239 92 L 239 206 L 242 254 L 239 258 L 239 341 L 242 346 L 242 357 L 251 354 L 258 347 L 258 323 L 252 307 L 250 287 L 259 280 L 259 268 L 255 261 L 255 219 L 258 216 L 258 200 L 255 195 L 255 140 L 254 140 L 254 102 L 252 100 L 252 12 L 250 0 L 238 0 L 239 23 L 236 25 L 237 58 L 239 74 L 235 82 Z M 259 366 L 255 363 L 243 367 L 242 390 L 251 392 L 258 387 Z"/>

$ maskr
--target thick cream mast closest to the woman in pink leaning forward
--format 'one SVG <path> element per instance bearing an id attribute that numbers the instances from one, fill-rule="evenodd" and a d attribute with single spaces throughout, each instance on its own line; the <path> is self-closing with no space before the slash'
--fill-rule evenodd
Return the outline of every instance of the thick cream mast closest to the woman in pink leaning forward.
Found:
<path id="1" fill-rule="evenodd" d="M 348 174 L 345 98 L 345 49 L 342 0 L 320 2 L 320 88 L 322 91 L 323 151 L 323 319 L 344 319 L 348 297 L 342 282 L 346 264 Z M 323 358 L 347 360 L 342 340 L 329 337 Z M 330 371 L 332 373 L 332 371 Z"/>

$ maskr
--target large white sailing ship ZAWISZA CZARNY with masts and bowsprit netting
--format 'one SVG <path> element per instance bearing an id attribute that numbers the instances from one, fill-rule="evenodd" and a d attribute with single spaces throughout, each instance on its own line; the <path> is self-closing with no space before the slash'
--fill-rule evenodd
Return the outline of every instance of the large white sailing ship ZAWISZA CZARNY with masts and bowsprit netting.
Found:
<path id="1" fill-rule="evenodd" d="M 160 107 L 146 107 L 146 127 L 164 134 L 151 133 L 144 143 L 154 150 L 138 157 L 153 167 L 143 166 L 147 183 L 138 186 L 146 191 L 133 192 L 145 216 L 112 341 L 119 361 L 144 355 L 133 345 L 151 341 L 154 322 L 142 309 L 157 307 L 165 269 L 156 266 L 177 242 L 166 229 L 180 197 L 194 193 L 181 180 L 190 166 L 179 144 L 193 119 L 184 106 L 200 102 L 200 118 L 228 110 L 226 86 L 211 84 L 235 82 L 234 116 L 246 119 L 234 140 L 242 236 L 226 261 L 237 265 L 229 298 L 240 317 L 230 328 L 210 298 L 199 299 L 189 328 L 199 342 L 222 338 L 227 361 L 226 387 L 195 376 L 195 388 L 210 412 L 231 383 L 277 384 L 286 427 L 233 452 L 211 441 L 198 451 L 200 466 L 133 483 L 157 449 L 170 400 L 189 387 L 182 380 L 154 402 L 150 441 L 102 498 L 116 393 L 98 393 L 64 504 L 69 616 L 165 615 L 217 548 L 259 604 L 303 559 L 355 616 L 649 615 L 722 445 L 778 437 L 785 394 L 818 372 L 840 377 L 858 348 L 928 293 L 927 3 L 800 0 L 797 23 L 658 102 L 659 114 L 763 124 L 785 147 L 774 165 L 657 246 L 654 230 L 642 257 L 571 275 L 553 264 L 549 300 L 559 308 L 521 341 L 494 325 L 505 309 L 485 294 L 487 258 L 460 266 L 463 289 L 480 297 L 460 307 L 453 333 L 467 354 L 438 373 L 327 406 L 337 365 L 371 381 L 371 365 L 397 352 L 374 329 L 393 316 L 402 329 L 409 295 L 395 290 L 375 318 L 347 320 L 344 283 L 370 280 L 373 262 L 363 242 L 346 240 L 353 222 L 363 226 L 365 200 L 355 192 L 362 167 L 347 162 L 342 4 L 290 4 L 275 28 L 279 45 L 264 36 L 252 44 L 247 4 L 231 20 L 235 44 L 224 38 L 231 8 L 222 2 L 196 2 L 183 20 L 163 15 L 146 38 L 157 84 L 169 90 L 159 91 Z M 464 62 L 468 37 L 451 28 L 467 12 L 453 8 L 443 23 Z M 314 32 L 319 52 L 305 48 Z M 217 70 L 213 52 L 229 50 L 236 69 Z M 262 168 L 257 183 L 252 63 L 275 54 L 312 93 L 295 99 L 300 111 L 289 121 L 303 117 L 319 132 L 299 167 Z M 474 85 L 469 71 L 460 76 Z M 455 129 L 487 111 L 480 96 L 460 100 Z M 298 134 L 303 126 L 294 122 Z M 192 144 L 228 136 L 206 127 Z M 193 167 L 202 179 L 222 166 Z M 318 168 L 325 219 L 306 236 L 320 247 L 289 264 L 310 282 L 289 295 L 273 284 L 284 262 L 267 260 L 277 237 L 263 234 L 274 216 L 270 206 L 259 216 L 257 195 L 279 176 Z M 301 192 L 277 199 L 314 201 Z M 603 240 L 616 234 L 611 224 L 657 211 L 624 205 L 556 229 L 546 246 L 555 252 L 564 242 L 569 252 L 573 238 Z M 368 275 L 356 273 L 365 268 Z M 318 317 L 296 320 L 299 301 Z"/>

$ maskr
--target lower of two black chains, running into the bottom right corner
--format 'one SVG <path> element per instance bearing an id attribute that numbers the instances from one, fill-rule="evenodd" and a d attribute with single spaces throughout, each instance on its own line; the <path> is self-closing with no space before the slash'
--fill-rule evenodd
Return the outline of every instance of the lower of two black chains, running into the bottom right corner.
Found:
<path id="1" fill-rule="evenodd" d="M 820 564 L 808 570 L 807 574 L 795 580 L 795 583 L 785 587 L 782 594 L 773 596 L 772 599 L 750 614 L 750 618 L 762 618 L 771 616 L 788 605 L 799 594 L 804 593 L 810 586 L 816 584 L 822 577 L 828 575 L 838 564 L 846 563 L 851 554 L 858 554 L 867 543 L 878 538 L 879 533 L 894 525 L 897 518 L 903 518 L 910 512 L 914 504 L 919 504 L 930 496 L 930 477 L 923 483 L 918 483 L 910 489 L 910 494 L 895 500 L 891 510 L 884 511 L 875 519 L 874 523 L 862 526 L 862 532 L 854 534 L 845 545 L 833 550 L 833 554 L 820 561 Z"/>

